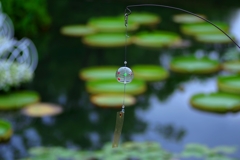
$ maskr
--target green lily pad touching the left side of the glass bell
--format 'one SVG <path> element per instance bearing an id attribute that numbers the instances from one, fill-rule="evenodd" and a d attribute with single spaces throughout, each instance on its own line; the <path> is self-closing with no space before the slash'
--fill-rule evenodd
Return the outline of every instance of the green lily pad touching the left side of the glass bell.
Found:
<path id="1" fill-rule="evenodd" d="M 116 79 L 115 74 L 118 68 L 117 66 L 88 67 L 82 69 L 79 76 L 83 80 Z"/>

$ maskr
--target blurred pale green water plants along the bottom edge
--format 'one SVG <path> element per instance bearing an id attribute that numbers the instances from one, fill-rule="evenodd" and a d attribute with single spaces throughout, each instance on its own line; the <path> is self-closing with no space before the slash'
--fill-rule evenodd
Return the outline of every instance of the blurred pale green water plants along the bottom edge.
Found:
<path id="1" fill-rule="evenodd" d="M 106 143 L 98 151 L 71 150 L 63 147 L 35 147 L 29 150 L 29 154 L 31 160 L 180 160 L 182 158 L 236 160 L 231 157 L 231 154 L 236 151 L 237 148 L 234 146 L 209 148 L 202 144 L 190 143 L 181 153 L 173 153 L 166 151 L 156 142 L 124 142 L 121 147 L 114 149 L 111 143 Z"/>

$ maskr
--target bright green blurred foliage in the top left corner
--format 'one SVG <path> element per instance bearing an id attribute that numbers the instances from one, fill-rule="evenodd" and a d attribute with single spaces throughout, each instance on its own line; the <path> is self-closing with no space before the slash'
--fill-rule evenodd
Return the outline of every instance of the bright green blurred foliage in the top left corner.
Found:
<path id="1" fill-rule="evenodd" d="M 17 37 L 37 36 L 51 24 L 46 0 L 1 0 L 1 3 L 3 12 L 13 21 Z"/>

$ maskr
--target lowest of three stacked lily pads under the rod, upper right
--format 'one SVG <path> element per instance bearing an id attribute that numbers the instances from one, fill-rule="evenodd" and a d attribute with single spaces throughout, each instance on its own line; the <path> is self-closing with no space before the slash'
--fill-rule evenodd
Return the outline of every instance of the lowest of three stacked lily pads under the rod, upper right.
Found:
<path id="1" fill-rule="evenodd" d="M 230 35 L 230 34 L 228 34 Z M 202 33 L 199 35 L 194 36 L 195 39 L 199 42 L 203 43 L 231 43 L 231 39 L 228 38 L 225 34 L 223 33 Z M 233 36 L 230 35 L 232 39 L 234 39 Z"/>

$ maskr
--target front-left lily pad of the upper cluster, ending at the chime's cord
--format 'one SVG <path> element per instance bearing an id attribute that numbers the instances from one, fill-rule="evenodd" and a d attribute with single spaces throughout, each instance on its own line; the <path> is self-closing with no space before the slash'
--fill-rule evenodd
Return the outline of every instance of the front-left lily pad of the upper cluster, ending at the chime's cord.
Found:
<path id="1" fill-rule="evenodd" d="M 131 43 L 131 38 L 127 38 L 125 34 L 120 33 L 98 33 L 85 36 L 82 39 L 83 43 L 91 47 L 122 47 L 125 44 Z"/>

